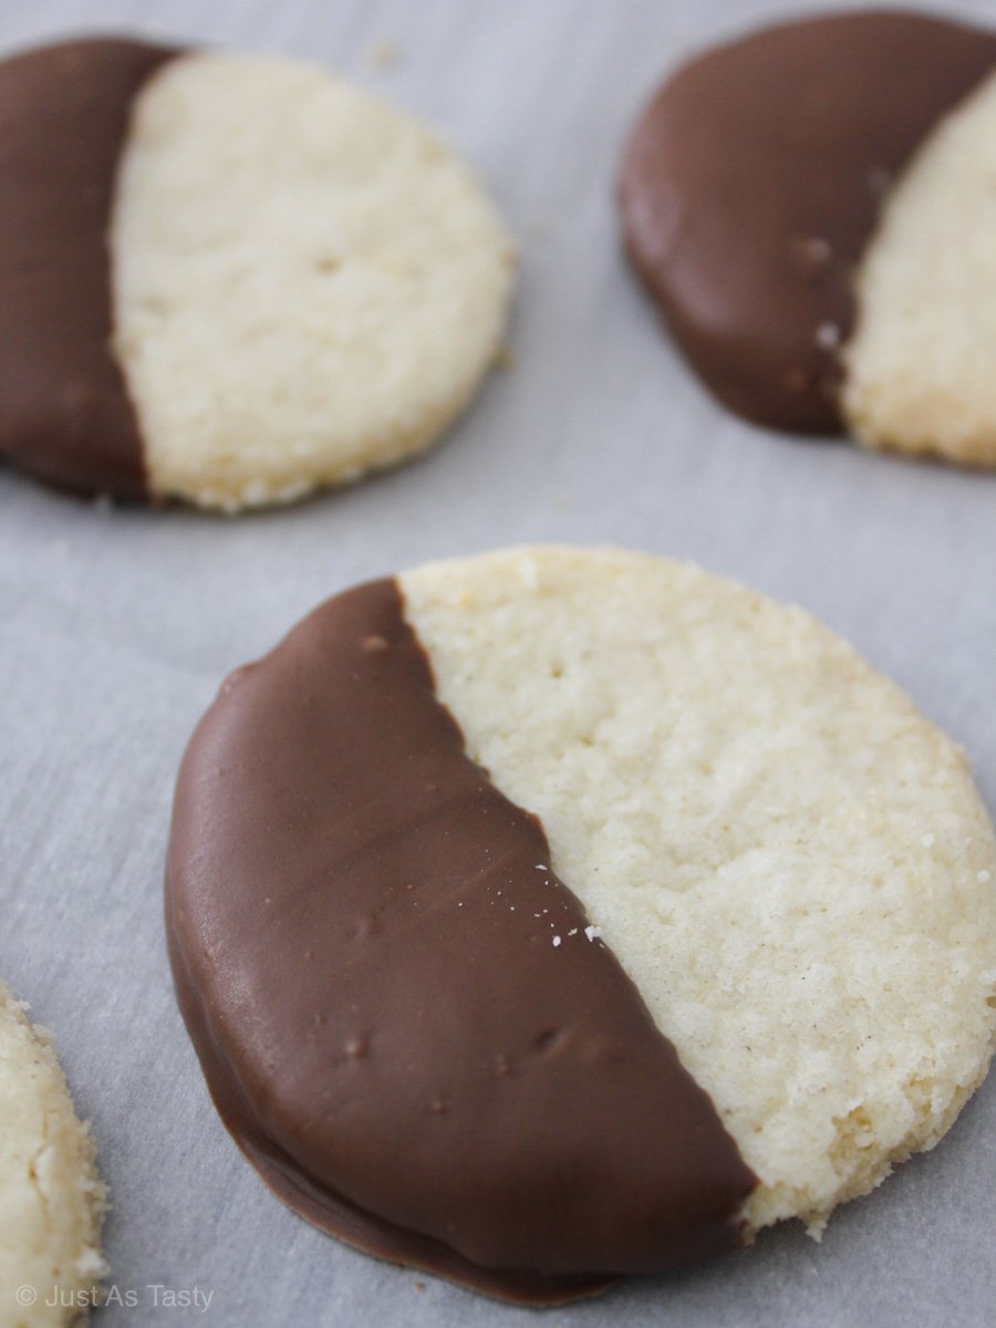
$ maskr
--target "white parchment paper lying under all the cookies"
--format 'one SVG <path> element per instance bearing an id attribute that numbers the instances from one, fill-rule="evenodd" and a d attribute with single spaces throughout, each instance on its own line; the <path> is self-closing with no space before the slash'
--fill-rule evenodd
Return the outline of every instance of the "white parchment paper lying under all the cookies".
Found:
<path id="1" fill-rule="evenodd" d="M 177 762 L 222 676 L 325 596 L 519 540 L 692 558 L 849 636 L 968 748 L 996 803 L 996 475 L 722 414 L 619 256 L 618 150 L 659 77 L 696 45 L 805 7 L 0 0 L 4 52 L 125 31 L 324 61 L 466 151 L 522 247 L 514 368 L 400 471 L 239 521 L 104 510 L 0 471 L 0 973 L 56 1029 L 93 1120 L 114 1201 L 102 1328 L 539 1323 L 286 1211 L 218 1122 L 174 1005 L 161 879 Z M 957 11 L 996 21 L 987 0 Z M 996 1078 L 822 1246 L 785 1227 L 542 1321 L 983 1328 L 995 1274 Z"/>

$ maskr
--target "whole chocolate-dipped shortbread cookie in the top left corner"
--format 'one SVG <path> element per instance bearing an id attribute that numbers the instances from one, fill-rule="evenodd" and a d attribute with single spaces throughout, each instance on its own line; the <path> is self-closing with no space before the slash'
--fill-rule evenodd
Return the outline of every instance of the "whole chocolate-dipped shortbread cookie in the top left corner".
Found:
<path id="1" fill-rule="evenodd" d="M 319 69 L 77 41 L 0 64 L 0 456 L 235 511 L 421 452 L 501 343 L 462 162 Z"/>

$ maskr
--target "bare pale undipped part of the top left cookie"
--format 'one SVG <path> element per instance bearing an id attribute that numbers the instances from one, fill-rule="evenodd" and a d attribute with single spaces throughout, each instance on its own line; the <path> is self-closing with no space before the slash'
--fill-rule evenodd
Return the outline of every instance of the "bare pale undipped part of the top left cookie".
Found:
<path id="1" fill-rule="evenodd" d="M 162 497 L 290 502 L 421 452 L 502 344 L 514 255 L 467 167 L 290 60 L 194 53 L 147 82 L 112 240 Z"/>

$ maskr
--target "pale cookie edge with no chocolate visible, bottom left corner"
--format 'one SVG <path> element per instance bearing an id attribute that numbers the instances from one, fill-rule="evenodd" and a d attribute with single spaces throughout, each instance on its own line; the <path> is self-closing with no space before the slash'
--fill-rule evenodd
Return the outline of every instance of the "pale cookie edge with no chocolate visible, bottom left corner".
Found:
<path id="1" fill-rule="evenodd" d="M 106 1272 L 93 1139 L 25 1008 L 0 983 L 0 1328 L 74 1321 Z"/>

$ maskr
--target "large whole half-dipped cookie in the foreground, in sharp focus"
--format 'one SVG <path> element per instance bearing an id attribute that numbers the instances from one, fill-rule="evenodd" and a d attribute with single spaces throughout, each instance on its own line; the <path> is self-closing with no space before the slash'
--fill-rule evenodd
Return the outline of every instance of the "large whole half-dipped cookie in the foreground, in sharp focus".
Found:
<path id="1" fill-rule="evenodd" d="M 526 548 L 231 675 L 166 918 L 276 1194 L 544 1303 L 818 1232 L 934 1145 L 993 1049 L 995 883 L 961 752 L 806 614 Z"/>

